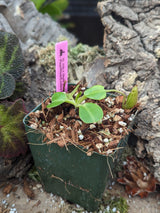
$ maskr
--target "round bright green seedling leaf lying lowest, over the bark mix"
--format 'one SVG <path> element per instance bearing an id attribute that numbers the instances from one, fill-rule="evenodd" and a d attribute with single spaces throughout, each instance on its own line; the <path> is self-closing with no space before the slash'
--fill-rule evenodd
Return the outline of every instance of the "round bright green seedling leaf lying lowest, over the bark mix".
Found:
<path id="1" fill-rule="evenodd" d="M 103 118 L 103 110 L 94 103 L 79 106 L 79 116 L 84 123 L 95 123 Z"/>

